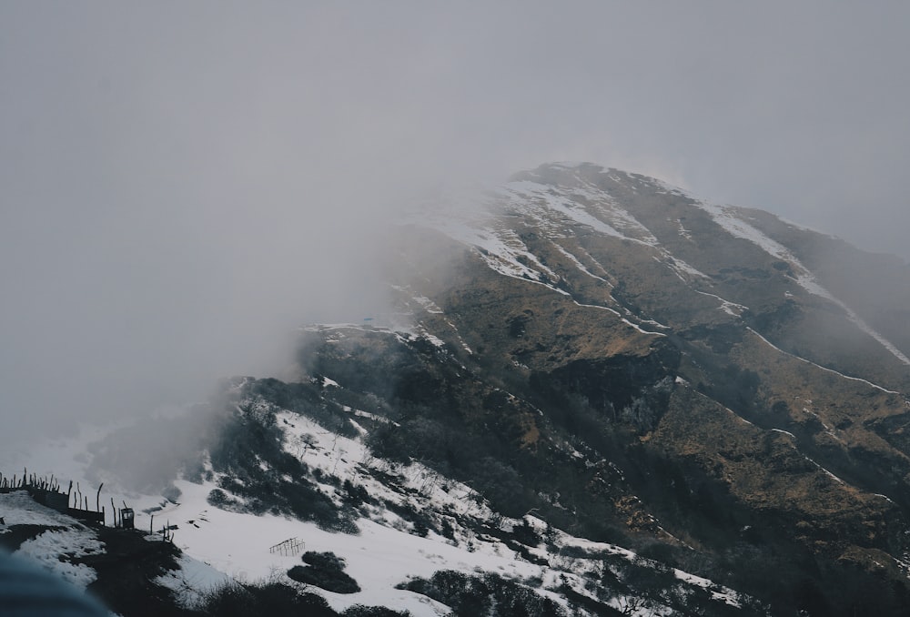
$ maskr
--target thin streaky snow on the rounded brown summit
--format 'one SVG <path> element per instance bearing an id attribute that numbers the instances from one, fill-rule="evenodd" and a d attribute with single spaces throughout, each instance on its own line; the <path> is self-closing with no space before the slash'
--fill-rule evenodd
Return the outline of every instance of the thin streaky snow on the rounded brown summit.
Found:
<path id="1" fill-rule="evenodd" d="M 455 199 L 451 197 L 441 199 L 435 208 L 422 213 L 419 222 L 429 224 L 451 238 L 474 247 L 493 270 L 513 278 L 530 279 L 563 295 L 569 294 L 551 284 L 551 281 L 557 281 L 559 277 L 533 255 L 510 228 L 507 218 L 516 215 L 525 217 L 531 227 L 538 229 L 545 237 L 551 238 L 554 243 L 554 238 L 573 236 L 572 226 L 591 228 L 611 238 L 622 238 L 655 248 L 660 256 L 659 260 L 668 268 L 672 268 L 676 276 L 685 283 L 689 283 L 692 278 L 707 278 L 697 268 L 681 259 L 673 258 L 669 251 L 660 246 L 658 239 L 648 228 L 630 212 L 620 207 L 609 193 L 582 177 L 577 167 L 564 168 L 576 169 L 574 179 L 578 186 L 554 187 L 533 180 L 512 181 L 504 187 L 484 194 L 474 193 L 470 196 L 462 194 Z M 681 188 L 672 187 L 660 180 L 613 169 L 609 172 L 609 177 L 630 188 L 634 188 L 635 183 L 644 182 L 661 192 L 688 197 Z M 630 179 L 634 181 L 630 182 Z M 774 258 L 787 262 L 794 271 L 797 284 L 811 294 L 834 302 L 858 328 L 885 347 L 896 359 L 910 366 L 910 358 L 825 289 L 791 250 L 744 220 L 737 208 L 698 200 L 693 200 L 693 203 L 706 211 L 733 237 L 752 242 Z M 465 207 L 469 205 L 470 207 Z M 691 239 L 691 233 L 683 227 L 682 221 L 677 219 L 676 222 L 680 228 L 680 235 Z M 557 246 L 557 249 L 586 276 L 607 282 L 586 268 L 565 248 Z M 736 317 L 742 313 L 744 307 L 722 299 L 721 309 Z"/>

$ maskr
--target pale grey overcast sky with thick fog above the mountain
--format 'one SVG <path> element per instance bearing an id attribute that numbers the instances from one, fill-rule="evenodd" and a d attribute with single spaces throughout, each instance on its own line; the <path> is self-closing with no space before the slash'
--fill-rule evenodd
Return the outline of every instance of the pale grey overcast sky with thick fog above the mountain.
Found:
<path id="1" fill-rule="evenodd" d="M 373 309 L 396 207 L 551 160 L 910 258 L 908 24 L 906 2 L 4 2 L 0 417 L 271 370 L 296 324 Z"/>

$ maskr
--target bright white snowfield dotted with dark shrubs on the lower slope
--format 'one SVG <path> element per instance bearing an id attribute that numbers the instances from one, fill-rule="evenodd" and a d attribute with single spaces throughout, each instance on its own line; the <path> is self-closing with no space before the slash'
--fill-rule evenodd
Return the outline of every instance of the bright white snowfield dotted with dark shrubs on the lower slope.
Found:
<path id="1" fill-rule="evenodd" d="M 359 440 L 340 437 L 323 430 L 307 418 L 281 411 L 277 414 L 278 426 L 286 430 L 286 450 L 311 466 L 346 478 L 366 488 L 379 501 L 407 503 L 417 509 L 450 512 L 478 521 L 494 520 L 489 506 L 469 487 L 440 476 L 419 463 L 408 466 L 391 464 L 375 459 Z M 295 451 L 294 443 L 308 439 L 309 447 Z M 389 485 L 374 480 L 366 470 L 375 469 L 391 474 L 404 488 L 396 491 Z M 353 604 L 385 605 L 397 610 L 407 610 L 418 616 L 448 614 L 449 608 L 413 592 L 395 589 L 410 578 L 430 578 L 435 571 L 456 570 L 466 574 L 495 572 L 516 581 L 542 580 L 544 587 L 556 587 L 562 577 L 573 589 L 590 595 L 584 589 L 585 580 L 574 573 L 570 566 L 576 561 L 563 560 L 546 551 L 532 548 L 531 552 L 547 559 L 551 565 L 541 566 L 522 560 L 514 551 L 495 538 L 481 536 L 454 522 L 455 541 L 440 537 L 430 531 L 426 538 L 411 533 L 410 523 L 382 508 L 370 507 L 368 518 L 357 521 L 359 533 L 346 535 L 322 531 L 314 523 L 289 518 L 264 515 L 253 516 L 238 512 L 221 511 L 207 504 L 209 491 L 214 483 L 193 484 L 177 481 L 182 492 L 179 504 L 167 504 L 157 516 L 176 522 L 177 545 L 195 561 L 181 563 L 180 571 L 166 575 L 162 582 L 171 588 L 184 589 L 223 581 L 217 572 L 225 572 L 241 581 L 280 578 L 290 582 L 283 572 L 300 563 L 299 556 L 269 552 L 268 548 L 288 538 L 298 538 L 305 543 L 301 551 L 331 551 L 347 563 L 346 571 L 359 583 L 360 592 L 337 594 L 318 590 L 337 611 Z M 324 486 L 325 491 L 332 487 Z M 543 521 L 527 516 L 524 519 L 543 530 Z M 194 521 L 195 524 L 187 524 Z M 511 529 L 520 521 L 503 519 L 502 529 Z M 489 522 L 488 522 L 489 524 Z M 551 530 L 552 541 L 557 546 L 577 546 L 590 551 L 608 551 L 633 560 L 637 556 L 622 547 L 574 538 L 562 531 Z M 591 563 L 596 560 L 591 561 Z M 201 563 L 202 565 L 199 565 Z M 590 565 L 590 564 L 589 564 Z M 582 568 L 579 571 L 584 571 Z M 702 584 L 697 577 L 680 573 L 681 580 Z M 703 581 L 703 580 L 699 580 Z M 186 584 L 185 584 L 186 583 Z M 712 585 L 704 582 L 705 586 Z M 312 590 L 310 591 L 317 591 Z M 557 594 L 537 589 L 554 601 L 567 606 Z M 190 592 L 187 592 L 190 594 Z M 191 595 L 191 594 L 190 594 Z M 731 595 L 733 598 L 734 595 Z M 187 601 L 192 598 L 187 596 Z"/>

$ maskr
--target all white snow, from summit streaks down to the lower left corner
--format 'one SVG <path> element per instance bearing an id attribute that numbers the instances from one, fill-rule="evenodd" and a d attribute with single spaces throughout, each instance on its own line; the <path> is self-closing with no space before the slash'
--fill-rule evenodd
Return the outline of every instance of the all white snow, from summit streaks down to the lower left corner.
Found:
<path id="1" fill-rule="evenodd" d="M 616 177 L 617 180 L 621 178 Z M 673 189 L 675 190 L 675 189 Z M 703 272 L 693 268 L 680 259 L 672 258 L 669 252 L 659 246 L 650 230 L 645 228 L 637 219 L 619 207 L 612 198 L 596 187 L 575 187 L 568 193 L 560 193 L 553 187 L 544 186 L 530 181 L 510 183 L 501 192 L 488 197 L 489 203 L 497 207 L 511 207 L 522 215 L 536 221 L 551 238 L 568 238 L 573 235 L 570 225 L 590 228 L 611 238 L 622 238 L 635 243 L 646 245 L 655 249 L 654 258 L 672 268 L 679 278 L 688 282 L 692 278 L 707 278 Z M 703 205 L 704 209 L 714 219 L 738 238 L 745 238 L 771 255 L 788 261 L 798 273 L 797 281 L 811 293 L 823 296 L 841 306 L 857 324 L 862 325 L 862 320 L 855 316 L 836 298 L 833 298 L 824 288 L 817 284 L 811 274 L 803 268 L 794 255 L 782 245 L 764 236 L 759 230 L 753 228 L 742 219 L 734 216 L 732 208 L 713 207 Z M 508 212 L 503 215 L 508 217 Z M 497 272 L 512 278 L 521 278 L 534 284 L 541 284 L 561 295 L 571 295 L 550 284 L 559 280 L 559 276 L 542 263 L 541 258 L 535 256 L 525 244 L 518 233 L 502 224 L 500 218 L 489 213 L 475 210 L 470 214 L 458 216 L 436 217 L 432 219 L 433 226 L 448 233 L 452 238 L 460 240 L 478 250 L 480 257 Z M 679 222 L 680 235 L 691 239 L 688 230 Z M 586 267 L 580 258 L 576 257 L 568 248 L 551 240 L 560 254 L 567 258 L 575 268 L 589 278 L 612 284 L 591 269 Z M 574 248 L 573 248 L 574 250 Z M 596 259 L 591 258 L 583 248 L 579 247 L 586 261 L 600 268 L 604 276 L 609 276 L 606 269 Z M 660 258 L 659 258 L 659 257 Z M 716 298 L 721 306 L 719 309 L 739 316 L 746 309 L 719 296 L 698 291 L 698 293 Z M 430 314 L 442 314 L 442 310 L 430 299 L 420 295 L 411 295 L 420 308 Z M 575 300 L 573 300 L 575 301 Z M 626 325 L 636 329 L 642 334 L 652 336 L 665 336 L 660 332 L 652 332 L 629 319 L 622 317 L 619 310 L 611 307 L 581 304 L 581 307 L 603 309 L 611 312 L 621 319 Z M 450 322 L 449 322 L 450 323 Z M 650 322 L 658 327 L 666 328 L 656 322 Z M 450 323 L 454 329 L 454 326 Z M 361 331 L 387 331 L 403 340 L 401 332 L 389 329 L 364 327 L 361 324 L 334 324 L 311 327 L 322 332 L 335 332 L 336 340 L 344 337 L 345 329 Z M 894 346 L 885 339 L 875 335 L 871 329 L 864 327 L 889 349 L 896 357 L 910 364 Z M 771 345 L 767 339 L 754 332 L 765 343 Z M 457 332 L 457 330 L 456 330 Z M 441 347 L 443 342 L 422 326 L 418 327 L 418 334 L 429 339 L 434 345 Z M 470 349 L 467 345 L 465 349 Z M 890 346 L 890 347 L 889 347 Z M 772 345 L 774 349 L 786 353 Z M 792 354 L 787 354 L 792 356 Z M 862 381 L 876 389 L 896 394 L 864 379 L 850 378 L 831 369 L 825 369 L 809 360 L 792 356 L 815 367 L 844 377 Z M 687 384 L 680 378 L 676 383 Z M 323 378 L 323 385 L 332 388 L 343 388 L 339 382 Z M 352 416 L 366 420 L 388 422 L 375 414 L 363 410 L 345 408 Z M 262 580 L 280 580 L 290 582 L 285 572 L 301 561 L 299 554 L 280 554 L 269 551 L 269 547 L 288 538 L 298 538 L 304 542 L 301 551 L 331 551 L 339 555 L 347 563 L 346 571 L 361 587 L 361 591 L 353 594 L 336 594 L 319 590 L 326 597 L 329 604 L 336 610 L 342 611 L 353 604 L 385 605 L 397 610 L 407 610 L 415 616 L 443 615 L 449 608 L 439 602 L 421 596 L 420 594 L 395 589 L 399 583 L 406 582 L 414 577 L 429 578 L 433 572 L 439 570 L 457 570 L 465 573 L 490 571 L 501 574 L 513 580 L 542 580 L 545 585 L 557 586 L 561 577 L 572 589 L 585 595 L 590 592 L 585 590 L 585 579 L 577 572 L 591 567 L 598 562 L 596 558 L 585 559 L 565 557 L 559 553 L 551 553 L 540 548 L 531 548 L 530 551 L 550 561 L 547 566 L 524 561 L 511 551 L 501 541 L 489 536 L 478 535 L 469 526 L 461 525 L 457 517 L 473 521 L 499 521 L 504 529 L 511 528 L 519 521 L 496 517 L 489 505 L 480 499 L 480 496 L 470 487 L 441 476 L 420 463 L 402 466 L 385 460 L 376 459 L 371 455 L 362 440 L 341 437 L 321 428 L 317 423 L 289 411 L 280 411 L 277 414 L 278 426 L 286 432 L 285 450 L 298 459 L 306 462 L 310 469 L 319 469 L 339 479 L 349 480 L 355 485 L 362 486 L 379 502 L 390 501 L 399 505 L 408 505 L 417 511 L 432 511 L 439 514 L 445 512 L 450 516 L 455 527 L 455 539 L 445 539 L 430 531 L 427 537 L 420 537 L 412 531 L 410 522 L 403 520 L 383 506 L 365 506 L 365 516 L 356 521 L 359 532 L 352 535 L 332 533 L 320 530 L 319 527 L 307 521 L 297 521 L 283 516 L 263 515 L 255 516 L 236 511 L 222 511 L 207 503 L 210 491 L 217 487 L 215 482 L 202 484 L 177 480 L 176 486 L 181 491 L 178 503 L 162 501 L 159 496 L 151 495 L 116 495 L 116 501 L 130 499 L 134 505 L 139 529 L 147 528 L 148 517 L 143 516 L 143 509 L 157 508 L 155 512 L 158 521 L 170 521 L 177 525 L 175 542 L 184 551 L 184 556 L 179 560 L 175 571 L 167 572 L 157 578 L 157 582 L 169 589 L 178 592 L 187 606 L 192 606 L 199 601 L 207 589 L 217 587 L 231 580 L 256 582 Z M 740 418 L 743 422 L 748 420 Z M 361 436 L 368 434 L 368 430 L 351 419 Z M 369 426 L 368 422 L 364 422 Z M 795 440 L 792 433 L 773 429 L 784 433 Z M 88 435 L 88 433 L 86 433 Z M 56 454 L 48 455 L 51 450 L 37 450 L 29 460 L 41 460 L 49 470 L 73 470 L 75 478 L 85 483 L 85 461 L 74 466 L 79 453 L 86 451 L 86 441 L 96 440 L 98 435 L 91 438 L 83 435 L 77 440 L 60 442 L 55 447 Z M 54 449 L 52 449 L 54 450 Z M 577 456 L 581 453 L 576 450 Z M 814 460 L 819 469 L 824 470 Z M 18 464 L 18 463 L 17 463 Z M 46 467 L 50 465 L 50 467 Z M 81 466 L 80 466 L 81 465 Z M 265 466 L 263 464 L 263 469 Z M 388 483 L 376 480 L 370 472 L 381 472 L 395 477 L 402 489 L 398 490 Z M 834 480 L 843 482 L 833 473 L 824 470 Z M 43 471 L 39 471 L 41 473 Z M 320 484 L 320 490 L 325 492 L 335 501 L 340 501 L 336 489 L 329 484 Z M 86 489 L 87 490 L 87 489 Z M 106 497 L 110 493 L 106 492 Z M 884 495 L 881 495 L 887 499 Z M 46 566 L 56 569 L 62 575 L 85 587 L 95 580 L 95 572 L 84 564 L 73 564 L 60 561 L 58 555 L 62 552 L 72 554 L 74 557 L 84 556 L 92 552 L 103 551 L 104 546 L 97 541 L 95 536 L 85 529 L 80 530 L 80 525 L 73 519 L 44 508 L 25 495 L 25 493 L 11 493 L 0 495 L 0 509 L 5 514 L 7 525 L 46 524 L 66 527 L 65 530 L 45 531 L 33 540 L 23 543 L 20 551 L 29 555 L 36 561 L 45 563 Z M 448 520 L 448 519 L 447 519 Z M 531 522 L 539 530 L 546 528 L 543 521 L 526 516 L 525 521 Z M 0 527 L 0 533 L 5 530 Z M 634 552 L 622 547 L 602 542 L 587 541 L 575 538 L 559 530 L 551 530 L 551 541 L 557 547 L 581 548 L 591 554 L 608 553 L 622 557 L 629 561 L 642 561 Z M 585 562 L 583 567 L 579 564 Z M 722 588 L 713 582 L 694 576 L 687 572 L 674 570 L 674 575 L 682 582 L 696 585 L 712 592 L 713 597 L 719 601 L 733 606 L 739 606 L 737 594 L 732 590 Z M 316 590 L 311 590 L 316 591 Z M 555 601 L 564 606 L 565 600 L 550 592 L 538 590 L 548 594 Z M 629 598 L 616 598 L 613 600 L 615 608 L 628 606 Z M 666 614 L 667 607 L 649 607 L 657 614 Z"/>

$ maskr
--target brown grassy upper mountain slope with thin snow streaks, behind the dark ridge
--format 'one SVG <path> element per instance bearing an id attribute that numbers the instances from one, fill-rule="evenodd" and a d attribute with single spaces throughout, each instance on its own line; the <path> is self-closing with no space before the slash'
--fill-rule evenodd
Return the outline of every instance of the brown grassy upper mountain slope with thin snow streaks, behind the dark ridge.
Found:
<path id="1" fill-rule="evenodd" d="M 743 528 L 774 533 L 813 560 L 905 584 L 910 347 L 895 316 L 906 288 L 863 291 L 910 268 L 591 165 L 543 166 L 479 198 L 460 220 L 421 215 L 457 242 L 458 265 L 434 281 L 410 260 L 409 280 L 423 281 L 411 295 L 436 308 L 410 302 L 419 330 L 470 349 L 463 358 L 576 444 L 639 475 L 630 491 L 686 543 L 716 551 Z M 878 270 L 847 280 L 878 263 L 885 282 Z M 590 421 L 566 420 L 580 407 Z M 729 521 L 699 516 L 699 491 L 723 498 Z"/>

